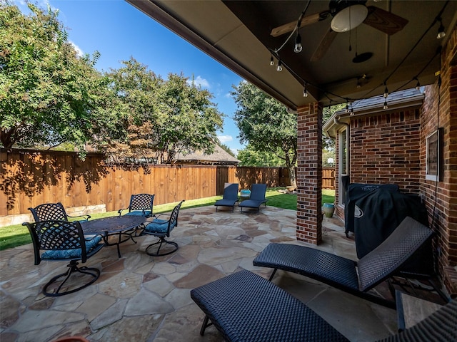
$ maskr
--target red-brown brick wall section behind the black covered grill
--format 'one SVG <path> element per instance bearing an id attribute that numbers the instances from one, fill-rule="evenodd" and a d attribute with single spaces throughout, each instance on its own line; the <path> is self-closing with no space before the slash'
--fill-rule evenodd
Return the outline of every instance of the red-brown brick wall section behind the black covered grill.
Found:
<path id="1" fill-rule="evenodd" d="M 351 120 L 351 182 L 418 194 L 420 128 L 419 107 Z"/>

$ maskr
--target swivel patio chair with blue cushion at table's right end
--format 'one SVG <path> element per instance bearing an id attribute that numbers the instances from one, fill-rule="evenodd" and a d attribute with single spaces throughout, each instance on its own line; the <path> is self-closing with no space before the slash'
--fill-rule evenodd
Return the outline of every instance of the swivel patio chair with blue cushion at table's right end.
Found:
<path id="1" fill-rule="evenodd" d="M 144 227 L 144 230 L 143 232 L 141 232 L 141 235 L 147 234 L 154 235 L 154 237 L 159 237 L 158 242 L 154 242 L 154 244 L 150 244 L 148 247 L 146 247 L 146 254 L 151 255 L 152 257 L 160 257 L 163 255 L 174 253 L 178 250 L 179 246 L 178 244 L 176 244 L 176 242 L 167 241 L 165 238 L 170 237 L 170 232 L 178 225 L 179 209 L 181 208 L 181 204 L 183 202 L 184 199 L 181 202 L 179 202 L 179 204 L 176 205 L 176 207 L 174 207 L 169 219 L 155 218 L 152 220 L 151 223 L 146 224 L 146 227 Z M 152 252 L 152 249 L 156 244 L 159 244 L 159 247 L 157 248 L 156 252 Z M 170 244 L 171 246 L 174 246 L 174 248 L 171 251 L 166 250 L 166 252 L 161 253 L 160 249 L 162 247 L 162 244 Z"/>

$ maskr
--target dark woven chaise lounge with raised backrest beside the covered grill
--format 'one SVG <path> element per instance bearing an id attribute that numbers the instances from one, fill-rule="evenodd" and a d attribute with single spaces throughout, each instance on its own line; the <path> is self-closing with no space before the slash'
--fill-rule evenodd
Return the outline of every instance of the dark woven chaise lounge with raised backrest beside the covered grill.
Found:
<path id="1" fill-rule="evenodd" d="M 350 294 L 383 306 L 395 302 L 368 292 L 396 274 L 401 266 L 432 236 L 431 229 L 406 217 L 376 249 L 358 262 L 327 252 L 294 244 L 268 244 L 254 259 L 254 266 L 291 271 L 322 281 Z M 392 291 L 392 289 L 391 289 Z"/>

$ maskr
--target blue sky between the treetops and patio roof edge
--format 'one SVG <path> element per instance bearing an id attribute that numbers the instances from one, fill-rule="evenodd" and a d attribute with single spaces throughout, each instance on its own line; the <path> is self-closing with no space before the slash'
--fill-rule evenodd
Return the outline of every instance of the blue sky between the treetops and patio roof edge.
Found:
<path id="1" fill-rule="evenodd" d="M 34 1 L 32 1 L 34 2 Z M 169 73 L 194 76 L 202 88 L 214 95 L 213 102 L 224 118 L 219 139 L 232 150 L 243 148 L 238 128 L 231 120 L 236 104 L 231 98 L 232 85 L 242 80 L 238 75 L 201 52 L 184 39 L 161 26 L 154 19 L 123 0 L 38 0 L 41 8 L 50 4 L 59 9 L 59 21 L 69 33 L 69 41 L 81 53 L 99 51 L 96 63 L 100 71 L 120 68 L 120 61 L 133 56 L 151 71 L 166 78 Z M 25 1 L 16 0 L 21 11 L 28 11 Z"/>

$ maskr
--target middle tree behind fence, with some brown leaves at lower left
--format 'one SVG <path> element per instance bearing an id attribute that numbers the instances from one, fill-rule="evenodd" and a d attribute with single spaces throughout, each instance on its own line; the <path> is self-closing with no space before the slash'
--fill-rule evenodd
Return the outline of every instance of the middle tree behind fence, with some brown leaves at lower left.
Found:
<path id="1" fill-rule="evenodd" d="M 119 101 L 125 134 L 107 150 L 120 158 L 172 163 L 179 153 L 214 151 L 223 115 L 211 102 L 213 95 L 183 75 L 164 80 L 133 57 L 108 74 Z"/>

